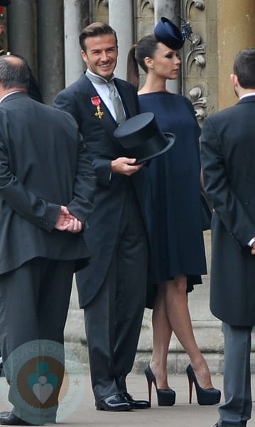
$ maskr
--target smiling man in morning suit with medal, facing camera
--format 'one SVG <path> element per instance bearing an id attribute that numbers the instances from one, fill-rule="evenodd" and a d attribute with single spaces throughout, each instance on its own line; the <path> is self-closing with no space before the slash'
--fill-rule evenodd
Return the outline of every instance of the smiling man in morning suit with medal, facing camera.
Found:
<path id="1" fill-rule="evenodd" d="M 114 137 L 120 122 L 138 114 L 138 98 L 133 85 L 114 76 L 118 47 L 109 25 L 87 26 L 80 33 L 80 46 L 87 71 L 58 94 L 55 107 L 77 120 L 97 174 L 95 209 L 85 231 L 91 261 L 76 275 L 80 307 L 85 308 L 92 388 L 97 409 L 148 408 L 147 401 L 135 401 L 126 389 L 146 302 L 142 166 L 126 157 Z"/>

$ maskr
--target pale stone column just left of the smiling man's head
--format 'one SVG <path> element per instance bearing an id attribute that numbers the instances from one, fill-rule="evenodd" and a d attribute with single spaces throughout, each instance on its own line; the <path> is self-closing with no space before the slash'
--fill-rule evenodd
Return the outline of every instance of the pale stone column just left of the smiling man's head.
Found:
<path id="1" fill-rule="evenodd" d="M 80 55 L 80 0 L 64 0 L 65 86 L 73 83 L 85 68 Z"/>

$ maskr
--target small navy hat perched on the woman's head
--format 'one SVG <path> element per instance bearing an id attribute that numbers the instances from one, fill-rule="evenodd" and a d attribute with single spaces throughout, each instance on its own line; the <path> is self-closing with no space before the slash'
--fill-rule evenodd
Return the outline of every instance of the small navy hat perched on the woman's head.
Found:
<path id="1" fill-rule="evenodd" d="M 164 16 L 158 21 L 154 28 L 154 34 L 161 43 L 164 43 L 168 48 L 178 51 L 183 47 L 185 36 L 170 19 Z"/>

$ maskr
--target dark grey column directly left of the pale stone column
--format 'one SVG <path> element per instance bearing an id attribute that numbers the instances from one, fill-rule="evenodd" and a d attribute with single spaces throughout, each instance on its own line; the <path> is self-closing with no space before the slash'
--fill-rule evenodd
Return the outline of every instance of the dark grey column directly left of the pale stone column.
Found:
<path id="1" fill-rule="evenodd" d="M 38 60 L 45 104 L 65 86 L 63 0 L 38 1 Z"/>

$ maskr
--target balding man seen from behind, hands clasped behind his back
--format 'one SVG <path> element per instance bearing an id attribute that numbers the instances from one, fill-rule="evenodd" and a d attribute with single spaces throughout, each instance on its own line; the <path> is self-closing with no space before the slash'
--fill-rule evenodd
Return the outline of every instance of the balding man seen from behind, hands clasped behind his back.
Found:
<path id="1" fill-rule="evenodd" d="M 96 182 L 73 117 L 32 100 L 28 81 L 25 60 L 1 56 L 0 348 L 13 404 L 0 413 L 6 425 L 34 423 L 13 392 L 15 364 L 6 369 L 13 351 L 45 339 L 63 347 L 72 276 L 88 262 L 82 228 Z M 57 407 L 58 396 L 50 422 Z"/>

